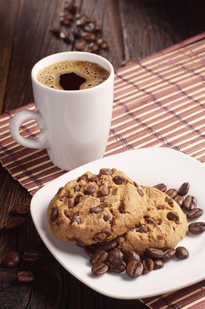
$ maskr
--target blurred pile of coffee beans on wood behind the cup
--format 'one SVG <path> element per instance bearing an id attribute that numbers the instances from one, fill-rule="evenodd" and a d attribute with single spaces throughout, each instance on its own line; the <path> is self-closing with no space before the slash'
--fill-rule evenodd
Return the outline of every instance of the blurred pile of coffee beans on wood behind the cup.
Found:
<path id="1" fill-rule="evenodd" d="M 74 43 L 74 48 L 78 51 L 97 53 L 100 49 L 106 49 L 107 42 L 102 39 L 98 23 L 77 11 L 75 0 L 66 1 L 59 18 L 60 26 L 50 29 L 53 35 L 66 43 L 73 43 L 78 39 Z"/>

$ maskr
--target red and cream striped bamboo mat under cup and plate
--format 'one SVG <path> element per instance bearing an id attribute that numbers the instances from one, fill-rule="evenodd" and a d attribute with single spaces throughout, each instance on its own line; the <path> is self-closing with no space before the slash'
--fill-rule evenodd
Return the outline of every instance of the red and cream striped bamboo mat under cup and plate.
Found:
<path id="1" fill-rule="evenodd" d="M 32 195 L 66 173 L 45 150 L 17 144 L 10 118 L 35 110 L 34 103 L 0 115 L 0 161 Z M 34 120 L 21 125 L 35 138 Z M 104 156 L 143 147 L 168 147 L 205 163 L 205 33 L 173 45 L 115 72 L 113 115 Z M 205 280 L 141 300 L 151 309 L 205 309 Z"/>

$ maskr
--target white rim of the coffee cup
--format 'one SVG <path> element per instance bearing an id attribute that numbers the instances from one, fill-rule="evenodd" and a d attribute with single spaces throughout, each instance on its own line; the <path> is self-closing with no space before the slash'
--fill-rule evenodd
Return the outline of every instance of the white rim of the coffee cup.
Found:
<path id="1" fill-rule="evenodd" d="M 91 53 L 83 52 L 83 51 L 65 51 L 65 52 L 55 53 L 55 54 L 46 56 L 46 57 L 42 58 L 41 60 L 39 60 L 38 62 L 36 62 L 36 64 L 34 65 L 34 67 L 32 69 L 32 72 L 31 72 L 32 81 L 36 82 L 42 88 L 47 89 L 47 90 L 49 89 L 51 91 L 55 91 L 56 93 L 58 93 L 58 92 L 60 92 L 60 93 L 62 93 L 62 92 L 63 93 L 76 93 L 76 90 L 61 90 L 61 89 L 55 89 L 55 88 L 47 87 L 46 85 L 43 85 L 40 81 L 38 81 L 37 78 L 36 78 L 36 75 L 34 75 L 34 71 L 35 71 L 36 66 L 39 65 L 40 62 L 43 62 L 43 60 L 52 58 L 53 56 L 62 55 L 62 54 L 65 55 L 65 54 L 70 54 L 70 53 L 72 53 L 72 54 L 75 53 L 76 55 L 79 55 L 79 54 L 80 55 L 93 55 L 94 58 L 102 59 L 109 66 L 109 69 L 110 69 L 109 77 L 106 80 L 104 80 L 101 84 L 94 86 L 94 87 L 91 87 L 91 88 L 87 88 L 87 89 L 79 89 L 79 90 L 77 90 L 77 93 L 78 93 L 78 91 L 80 91 L 80 93 L 82 93 L 82 92 L 92 91 L 92 89 L 97 89 L 99 87 L 102 87 L 102 85 L 105 85 L 107 82 L 109 82 L 110 78 L 114 77 L 114 68 L 113 68 L 112 64 L 106 58 L 104 58 L 100 55 L 91 54 Z M 95 62 L 95 60 L 93 62 Z M 41 68 L 41 69 L 43 69 L 43 68 Z M 41 69 L 39 69 L 39 71 Z"/>

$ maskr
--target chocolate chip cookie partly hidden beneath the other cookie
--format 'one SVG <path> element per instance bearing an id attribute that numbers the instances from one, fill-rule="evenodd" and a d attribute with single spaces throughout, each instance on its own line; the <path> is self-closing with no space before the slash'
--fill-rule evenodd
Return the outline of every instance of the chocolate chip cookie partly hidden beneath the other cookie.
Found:
<path id="1" fill-rule="evenodd" d="M 117 237 L 123 251 L 142 253 L 146 248 L 169 249 L 176 246 L 187 232 L 187 220 L 180 206 L 153 187 L 145 187 L 147 211 L 133 229 Z"/>

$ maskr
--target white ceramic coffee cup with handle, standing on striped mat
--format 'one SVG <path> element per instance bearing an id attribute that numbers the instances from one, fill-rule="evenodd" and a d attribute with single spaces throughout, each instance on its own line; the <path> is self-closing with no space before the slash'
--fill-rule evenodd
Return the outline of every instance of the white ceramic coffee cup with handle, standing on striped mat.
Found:
<path id="1" fill-rule="evenodd" d="M 41 84 L 37 73 L 59 61 L 95 62 L 110 76 L 92 88 L 58 90 Z M 43 58 L 32 70 L 34 102 L 37 112 L 24 110 L 14 115 L 9 130 L 22 146 L 46 148 L 51 161 L 59 168 L 70 170 L 102 157 L 105 151 L 113 105 L 114 70 L 103 57 L 86 52 L 68 51 Z M 19 134 L 23 121 L 36 120 L 41 129 L 36 139 Z"/>

